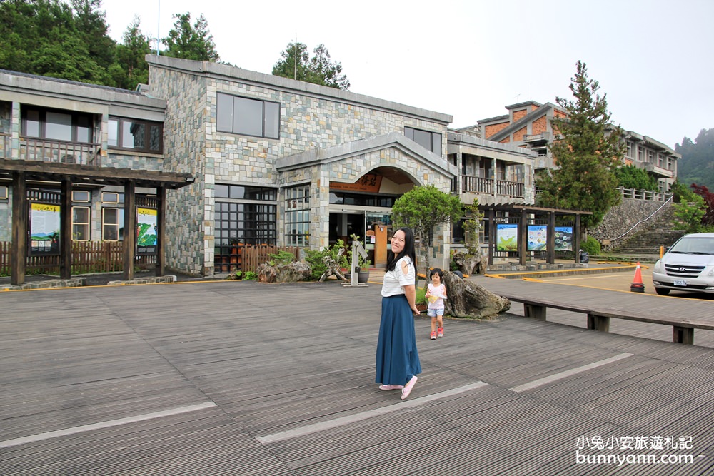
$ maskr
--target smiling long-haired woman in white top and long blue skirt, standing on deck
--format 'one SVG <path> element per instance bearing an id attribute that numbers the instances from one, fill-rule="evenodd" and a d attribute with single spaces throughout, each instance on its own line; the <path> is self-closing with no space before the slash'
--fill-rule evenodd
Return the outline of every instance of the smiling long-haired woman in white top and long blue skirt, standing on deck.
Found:
<path id="1" fill-rule="evenodd" d="M 377 340 L 376 383 L 380 390 L 401 390 L 404 400 L 421 373 L 416 351 L 416 253 L 411 228 L 399 228 L 391 239 L 382 283 L 382 319 Z"/>

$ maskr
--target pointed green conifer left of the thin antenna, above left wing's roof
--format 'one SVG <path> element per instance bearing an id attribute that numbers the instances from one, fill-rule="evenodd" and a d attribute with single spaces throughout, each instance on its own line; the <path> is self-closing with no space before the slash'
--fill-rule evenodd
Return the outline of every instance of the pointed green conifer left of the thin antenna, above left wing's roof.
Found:
<path id="1" fill-rule="evenodd" d="M 146 55 L 151 53 L 151 40 L 141 32 L 140 23 L 139 16 L 134 16 L 122 43 L 116 46 L 116 63 L 109 71 L 119 88 L 134 90 L 137 84 L 149 82 Z"/>

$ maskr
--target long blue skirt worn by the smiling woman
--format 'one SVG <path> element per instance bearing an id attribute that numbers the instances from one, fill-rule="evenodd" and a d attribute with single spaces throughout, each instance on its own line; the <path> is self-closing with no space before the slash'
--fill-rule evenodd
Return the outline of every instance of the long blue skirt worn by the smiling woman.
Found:
<path id="1" fill-rule="evenodd" d="M 414 315 L 403 294 L 382 298 L 376 361 L 376 383 L 404 385 L 421 373 Z"/>

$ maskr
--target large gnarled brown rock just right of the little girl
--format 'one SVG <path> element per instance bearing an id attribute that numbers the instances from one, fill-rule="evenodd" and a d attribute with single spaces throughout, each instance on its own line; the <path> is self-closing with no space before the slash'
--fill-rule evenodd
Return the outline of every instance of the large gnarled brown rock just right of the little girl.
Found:
<path id="1" fill-rule="evenodd" d="M 448 299 L 444 301 L 444 313 L 457 318 L 486 319 L 511 309 L 511 301 L 486 290 L 473 281 L 458 278 L 451 272 L 444 273 Z"/>

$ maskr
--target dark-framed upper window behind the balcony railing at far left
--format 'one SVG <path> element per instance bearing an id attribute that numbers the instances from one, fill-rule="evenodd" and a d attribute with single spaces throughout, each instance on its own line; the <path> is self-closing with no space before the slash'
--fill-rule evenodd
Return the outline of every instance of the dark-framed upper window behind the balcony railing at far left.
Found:
<path id="1" fill-rule="evenodd" d="M 22 136 L 49 141 L 92 143 L 92 116 L 71 111 L 23 108 Z"/>

